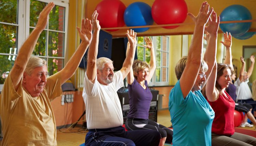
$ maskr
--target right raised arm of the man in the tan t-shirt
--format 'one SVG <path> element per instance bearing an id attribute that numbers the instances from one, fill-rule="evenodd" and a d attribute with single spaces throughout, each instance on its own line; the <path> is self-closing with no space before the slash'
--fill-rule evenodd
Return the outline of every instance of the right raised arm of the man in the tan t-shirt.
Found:
<path id="1" fill-rule="evenodd" d="M 61 75 L 61 85 L 64 84 L 75 73 L 89 44 L 91 43 L 93 29 L 91 20 L 88 20 L 87 18 L 85 20 L 83 19 L 81 29 L 78 27 L 76 27 L 76 29 L 82 41 L 73 56 L 67 62 L 66 66 L 58 72 Z"/>

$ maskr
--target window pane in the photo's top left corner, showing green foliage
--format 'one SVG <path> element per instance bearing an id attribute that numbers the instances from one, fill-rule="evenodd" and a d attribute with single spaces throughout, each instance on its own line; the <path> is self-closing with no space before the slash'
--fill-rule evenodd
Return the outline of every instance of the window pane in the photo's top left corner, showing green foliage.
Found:
<path id="1" fill-rule="evenodd" d="M 17 24 L 17 0 L 0 1 L 0 21 Z"/>

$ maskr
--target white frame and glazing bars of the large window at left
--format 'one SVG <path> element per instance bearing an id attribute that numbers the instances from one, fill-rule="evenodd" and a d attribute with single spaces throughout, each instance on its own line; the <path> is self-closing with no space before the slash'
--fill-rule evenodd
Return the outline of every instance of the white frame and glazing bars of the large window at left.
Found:
<path id="1" fill-rule="evenodd" d="M 66 49 L 67 49 L 67 33 L 68 33 L 68 14 L 69 14 L 69 0 L 36 0 L 40 2 L 54 2 L 55 5 L 65 7 L 65 28 L 64 31 L 55 31 L 51 30 L 51 32 L 60 32 L 64 33 L 64 54 L 63 57 L 49 57 L 47 56 L 35 56 L 35 57 L 42 57 L 45 58 L 47 61 L 47 68 L 48 68 L 48 58 L 61 58 L 63 59 L 63 63 L 65 62 L 65 54 L 66 54 Z M 13 26 L 18 26 L 18 31 L 17 31 L 17 53 L 16 54 L 11 54 L 12 56 L 17 56 L 19 52 L 19 48 L 22 46 L 26 38 L 29 36 L 29 29 L 34 28 L 29 26 L 29 18 L 30 18 L 30 0 L 18 0 L 18 24 L 12 24 L 12 23 L 5 23 L 5 22 L 0 22 L 0 24 L 8 24 L 8 25 L 13 25 Z M 49 24 L 47 24 L 49 25 Z M 48 28 L 48 27 L 47 27 Z M 46 31 L 49 31 L 49 29 L 45 29 Z M 47 33 L 47 38 L 46 38 L 46 43 L 48 44 L 48 33 Z M 46 45 L 46 54 L 48 54 L 48 45 Z M 10 55 L 6 53 L 0 53 L 0 55 Z M 34 55 L 31 55 L 34 56 Z M 64 66 L 63 66 L 64 67 Z M 2 91 L 3 84 L 0 85 L 0 91 Z"/>

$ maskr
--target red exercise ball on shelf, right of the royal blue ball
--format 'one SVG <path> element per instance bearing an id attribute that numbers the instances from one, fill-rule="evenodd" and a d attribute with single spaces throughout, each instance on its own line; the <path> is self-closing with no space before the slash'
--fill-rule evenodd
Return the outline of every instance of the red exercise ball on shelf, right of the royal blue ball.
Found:
<path id="1" fill-rule="evenodd" d="M 155 0 L 151 13 L 157 24 L 183 23 L 187 17 L 187 4 L 185 0 Z M 174 29 L 178 26 L 163 28 Z"/>

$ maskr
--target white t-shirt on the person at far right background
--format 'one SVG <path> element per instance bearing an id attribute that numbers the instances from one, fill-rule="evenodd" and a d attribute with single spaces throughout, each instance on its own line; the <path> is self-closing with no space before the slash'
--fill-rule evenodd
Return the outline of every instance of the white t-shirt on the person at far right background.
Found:
<path id="1" fill-rule="evenodd" d="M 237 87 L 236 94 L 237 94 L 237 100 L 246 100 L 252 98 L 251 90 L 248 86 L 249 80 L 240 82 L 239 78 L 237 81 L 235 81 L 234 85 Z"/>

